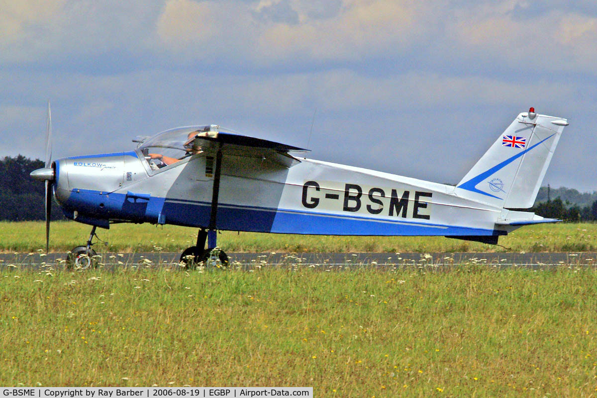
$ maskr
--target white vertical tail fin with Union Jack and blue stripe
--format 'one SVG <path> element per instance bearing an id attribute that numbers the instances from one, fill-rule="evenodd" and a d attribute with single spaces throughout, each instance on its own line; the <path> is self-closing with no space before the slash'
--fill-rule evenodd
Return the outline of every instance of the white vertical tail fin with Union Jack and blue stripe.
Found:
<path id="1" fill-rule="evenodd" d="M 498 207 L 527 209 L 558 145 L 566 119 L 519 114 L 457 185 L 456 193 Z"/>

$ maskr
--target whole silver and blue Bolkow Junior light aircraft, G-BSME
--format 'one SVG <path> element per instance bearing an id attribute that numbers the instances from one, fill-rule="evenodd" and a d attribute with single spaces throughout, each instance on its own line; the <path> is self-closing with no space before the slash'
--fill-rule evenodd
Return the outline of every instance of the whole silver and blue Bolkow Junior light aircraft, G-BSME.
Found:
<path id="1" fill-rule="evenodd" d="M 51 160 L 31 176 L 46 184 L 46 250 L 52 195 L 69 219 L 92 226 L 70 254 L 87 268 L 96 228 L 149 222 L 199 228 L 181 262 L 216 256 L 216 231 L 313 235 L 440 235 L 497 244 L 523 225 L 555 222 L 533 206 L 566 119 L 520 113 L 456 185 L 300 156 L 304 149 L 217 125 L 134 139 L 128 152 Z M 205 242 L 207 240 L 207 249 Z M 215 253 L 215 254 L 214 254 Z"/>

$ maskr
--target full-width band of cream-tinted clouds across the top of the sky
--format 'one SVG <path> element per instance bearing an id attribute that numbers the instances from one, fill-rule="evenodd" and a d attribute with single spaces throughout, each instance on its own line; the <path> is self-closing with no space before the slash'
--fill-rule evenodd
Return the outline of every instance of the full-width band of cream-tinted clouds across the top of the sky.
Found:
<path id="1" fill-rule="evenodd" d="M 594 73 L 597 7 L 552 1 L 4 0 L 0 65 Z"/>

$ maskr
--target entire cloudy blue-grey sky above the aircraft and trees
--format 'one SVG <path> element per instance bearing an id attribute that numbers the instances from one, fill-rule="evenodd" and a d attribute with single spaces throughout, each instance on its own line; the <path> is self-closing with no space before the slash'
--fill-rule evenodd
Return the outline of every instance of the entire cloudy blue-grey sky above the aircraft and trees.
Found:
<path id="1" fill-rule="evenodd" d="M 594 0 L 0 0 L 0 157 L 45 157 L 49 99 L 54 159 L 216 124 L 456 184 L 534 107 L 543 185 L 595 191 L 596 43 Z"/>

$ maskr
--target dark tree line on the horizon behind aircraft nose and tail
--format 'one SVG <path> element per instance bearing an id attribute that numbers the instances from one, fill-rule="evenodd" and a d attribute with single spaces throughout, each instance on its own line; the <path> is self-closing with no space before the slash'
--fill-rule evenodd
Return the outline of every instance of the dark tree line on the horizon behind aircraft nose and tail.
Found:
<path id="1" fill-rule="evenodd" d="M 44 167 L 43 161 L 31 160 L 22 155 L 0 158 L 0 220 L 45 219 L 44 182 L 36 181 L 29 176 L 30 172 L 41 167 Z M 564 200 L 561 197 L 564 197 Z M 549 189 L 542 186 L 535 205 L 525 211 L 571 222 L 597 221 L 597 192 L 580 193 L 576 189 Z M 54 201 L 52 219 L 64 219 Z"/>

